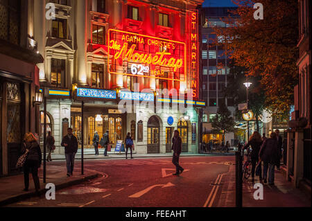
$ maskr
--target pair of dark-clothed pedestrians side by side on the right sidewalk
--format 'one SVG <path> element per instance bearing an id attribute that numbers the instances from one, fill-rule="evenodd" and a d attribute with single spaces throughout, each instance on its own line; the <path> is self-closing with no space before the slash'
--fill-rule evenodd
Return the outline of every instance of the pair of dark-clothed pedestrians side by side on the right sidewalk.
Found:
<path id="1" fill-rule="evenodd" d="M 268 184 L 274 185 L 275 166 L 279 170 L 281 161 L 282 138 L 279 135 L 279 130 L 272 132 L 270 138 L 267 138 L 266 134 L 261 137 L 259 132 L 254 132 L 243 150 L 250 146 L 252 147 L 252 181 L 254 181 L 254 172 L 258 167 L 260 181 L 265 184 L 268 181 Z M 263 173 L 261 171 L 261 162 L 263 162 Z"/>

